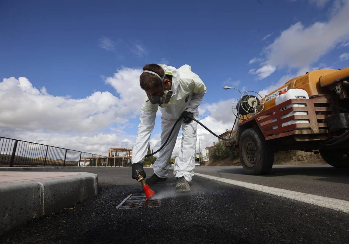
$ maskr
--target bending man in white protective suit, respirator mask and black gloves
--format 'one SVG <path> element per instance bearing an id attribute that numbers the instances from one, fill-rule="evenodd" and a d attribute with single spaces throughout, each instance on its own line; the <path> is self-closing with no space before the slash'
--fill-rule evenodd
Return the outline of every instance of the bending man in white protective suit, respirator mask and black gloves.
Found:
<path id="1" fill-rule="evenodd" d="M 143 177 L 144 156 L 147 154 L 150 134 L 154 129 L 158 107 L 161 116 L 161 145 L 168 138 L 170 131 L 179 117 L 183 117 L 174 128 L 167 145 L 159 152 L 153 169 L 154 175 L 146 180 L 155 184 L 167 180 L 169 162 L 180 127 L 182 142 L 178 157 L 174 161 L 173 174 L 177 178 L 176 191 L 190 191 L 195 168 L 196 126 L 197 123 L 187 116 L 198 119 L 198 107 L 206 93 L 206 86 L 187 64 L 176 69 L 165 64 L 147 64 L 140 76 L 140 86 L 146 92 L 141 108 L 140 124 L 136 142 L 132 150 L 132 178 L 137 179 L 135 170 Z"/>

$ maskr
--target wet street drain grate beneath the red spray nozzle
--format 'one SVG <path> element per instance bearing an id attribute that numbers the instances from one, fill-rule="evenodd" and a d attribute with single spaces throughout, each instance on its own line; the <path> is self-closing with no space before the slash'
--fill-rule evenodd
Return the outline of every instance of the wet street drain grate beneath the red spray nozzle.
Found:
<path id="1" fill-rule="evenodd" d="M 160 199 L 147 199 L 144 193 L 140 193 L 127 196 L 116 208 L 159 207 L 160 205 Z"/>

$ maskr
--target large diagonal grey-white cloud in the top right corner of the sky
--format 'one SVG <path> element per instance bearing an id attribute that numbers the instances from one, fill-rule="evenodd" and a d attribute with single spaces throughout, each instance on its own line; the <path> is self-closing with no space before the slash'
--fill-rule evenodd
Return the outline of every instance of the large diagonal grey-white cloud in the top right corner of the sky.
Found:
<path id="1" fill-rule="evenodd" d="M 336 44 L 349 39 L 348 13 L 349 1 L 346 1 L 327 22 L 307 27 L 300 22 L 291 25 L 266 47 L 266 63 L 276 67 L 309 67 Z"/>

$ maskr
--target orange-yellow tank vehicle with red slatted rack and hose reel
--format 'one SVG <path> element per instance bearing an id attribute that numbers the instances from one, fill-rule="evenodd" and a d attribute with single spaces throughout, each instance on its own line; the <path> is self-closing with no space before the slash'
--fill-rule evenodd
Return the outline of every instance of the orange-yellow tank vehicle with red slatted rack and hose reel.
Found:
<path id="1" fill-rule="evenodd" d="M 308 96 L 295 96 L 297 89 Z M 288 93 L 291 99 L 276 103 L 277 97 Z M 268 174 L 274 152 L 288 150 L 320 153 L 329 165 L 347 168 L 348 94 L 349 67 L 307 72 L 261 99 L 247 93 L 237 106 L 236 139 L 225 146 L 239 151 L 240 162 L 251 175 Z"/>

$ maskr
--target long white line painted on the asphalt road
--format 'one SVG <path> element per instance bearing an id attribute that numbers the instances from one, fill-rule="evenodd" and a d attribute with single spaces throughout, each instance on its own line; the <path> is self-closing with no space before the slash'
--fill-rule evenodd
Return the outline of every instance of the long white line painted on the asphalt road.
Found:
<path id="1" fill-rule="evenodd" d="M 211 176 L 211 175 L 204 175 L 199 173 L 194 173 L 194 174 L 197 176 L 208 178 L 210 180 L 216 180 L 216 181 L 220 181 L 220 182 L 224 182 L 232 185 L 238 185 L 248 189 L 261 191 L 261 192 L 265 192 L 272 195 L 285 197 L 285 198 L 289 198 L 297 201 L 302 201 L 304 203 L 310 203 L 310 204 L 321 206 L 321 207 L 331 208 L 344 213 L 349 213 L 349 201 L 329 198 L 329 197 L 322 197 L 322 196 L 312 195 L 312 194 L 303 193 L 303 192 L 290 191 L 290 190 L 285 190 L 285 189 L 280 189 L 280 188 L 275 188 L 275 187 L 270 187 L 265 185 L 257 185 L 257 184 L 252 184 L 248 182 L 243 182 L 243 181 L 235 181 L 235 180 L 220 178 L 220 177 Z"/>

